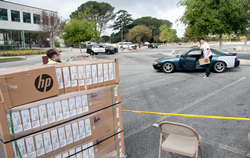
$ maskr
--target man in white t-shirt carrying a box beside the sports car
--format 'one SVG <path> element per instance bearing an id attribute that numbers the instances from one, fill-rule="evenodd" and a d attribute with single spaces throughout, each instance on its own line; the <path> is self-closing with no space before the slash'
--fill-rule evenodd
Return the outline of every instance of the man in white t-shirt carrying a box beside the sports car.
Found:
<path id="1" fill-rule="evenodd" d="M 203 51 L 204 58 L 205 59 L 209 58 L 209 60 L 211 61 L 211 59 L 213 57 L 212 52 L 210 50 L 210 47 L 209 47 L 208 43 L 205 42 L 205 39 L 203 37 L 200 39 L 200 43 L 198 44 L 198 48 L 199 48 L 199 50 Z M 210 63 L 205 65 L 205 67 L 206 67 L 206 75 L 203 78 L 208 78 L 209 75 L 210 75 Z"/>

